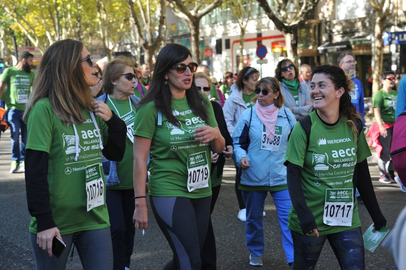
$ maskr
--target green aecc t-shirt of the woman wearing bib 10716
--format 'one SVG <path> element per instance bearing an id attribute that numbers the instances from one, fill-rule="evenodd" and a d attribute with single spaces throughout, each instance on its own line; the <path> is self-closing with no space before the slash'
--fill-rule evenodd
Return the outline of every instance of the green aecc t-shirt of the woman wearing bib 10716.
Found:
<path id="1" fill-rule="evenodd" d="M 56 117 L 48 98 L 35 103 L 27 120 L 26 149 L 49 153 L 50 208 L 52 218 L 62 235 L 110 226 L 99 134 L 89 111 L 82 109 L 82 113 L 86 119 L 85 122 L 75 125 L 79 137 L 77 161 L 75 161 L 76 136 L 73 125 L 65 125 Z M 95 119 L 102 142 L 105 142 L 108 139 L 107 125 L 102 118 L 95 116 Z M 86 167 L 91 165 L 95 165 L 92 170 L 99 176 L 99 181 L 94 188 L 90 187 L 88 190 Z M 99 185 L 100 181 L 103 185 Z M 94 196 L 96 193 L 99 193 L 100 198 L 103 197 L 104 204 L 87 211 L 88 195 Z M 37 234 L 35 217 L 31 219 L 30 232 Z"/>

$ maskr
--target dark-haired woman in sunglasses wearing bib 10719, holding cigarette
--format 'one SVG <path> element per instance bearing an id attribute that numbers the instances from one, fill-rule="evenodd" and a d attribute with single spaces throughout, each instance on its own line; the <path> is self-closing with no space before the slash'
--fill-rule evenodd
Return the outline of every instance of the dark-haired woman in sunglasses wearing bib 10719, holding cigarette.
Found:
<path id="1" fill-rule="evenodd" d="M 166 269 L 200 269 L 210 215 L 210 157 L 225 148 L 213 108 L 197 90 L 190 51 L 162 48 L 134 121 L 135 227 L 147 229 L 145 178 L 155 219 L 173 251 Z M 183 252 L 179 252 L 183 250 Z"/>

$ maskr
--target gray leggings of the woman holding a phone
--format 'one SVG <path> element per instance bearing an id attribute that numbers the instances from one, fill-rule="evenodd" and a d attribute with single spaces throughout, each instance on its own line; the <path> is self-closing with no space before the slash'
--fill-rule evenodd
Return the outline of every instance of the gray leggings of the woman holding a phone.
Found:
<path id="1" fill-rule="evenodd" d="M 111 270 L 113 268 L 110 227 L 65 234 L 62 236 L 62 240 L 66 244 L 66 249 L 59 258 L 50 257 L 47 251 L 37 245 L 37 235 L 30 233 L 37 270 L 64 270 L 72 243 L 75 243 L 84 270 Z"/>

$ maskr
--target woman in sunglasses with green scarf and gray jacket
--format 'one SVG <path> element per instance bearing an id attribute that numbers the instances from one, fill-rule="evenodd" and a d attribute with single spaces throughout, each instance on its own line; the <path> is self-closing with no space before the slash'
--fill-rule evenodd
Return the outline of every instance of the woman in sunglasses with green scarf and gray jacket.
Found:
<path id="1" fill-rule="evenodd" d="M 284 106 L 293 112 L 296 120 L 308 115 L 311 109 L 309 86 L 300 83 L 299 75 L 298 67 L 290 59 L 281 60 L 275 69 L 275 77 L 285 97 Z"/>

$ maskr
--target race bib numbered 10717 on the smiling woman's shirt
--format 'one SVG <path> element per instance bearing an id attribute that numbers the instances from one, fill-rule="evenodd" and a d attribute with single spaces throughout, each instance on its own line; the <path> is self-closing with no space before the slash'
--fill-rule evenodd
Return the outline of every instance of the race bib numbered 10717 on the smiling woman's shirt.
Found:
<path id="1" fill-rule="evenodd" d="M 352 189 L 326 189 L 323 223 L 330 226 L 351 226 L 354 201 Z"/>

